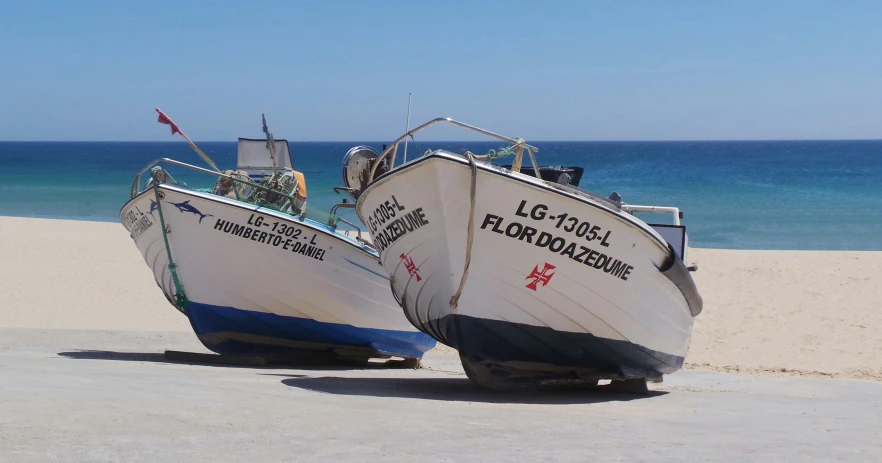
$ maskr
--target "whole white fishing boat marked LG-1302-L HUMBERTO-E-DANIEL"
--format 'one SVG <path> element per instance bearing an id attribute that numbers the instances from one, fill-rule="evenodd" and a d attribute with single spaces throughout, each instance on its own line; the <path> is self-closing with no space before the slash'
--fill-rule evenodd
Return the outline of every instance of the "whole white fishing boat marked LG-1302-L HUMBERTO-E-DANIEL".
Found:
<path id="1" fill-rule="evenodd" d="M 160 122 L 180 132 L 161 112 Z M 239 139 L 235 171 L 163 158 L 137 174 L 120 220 L 157 285 L 217 353 L 421 358 L 435 341 L 402 316 L 378 252 L 337 207 L 306 206 L 287 141 L 267 135 Z M 189 188 L 158 164 L 217 179 Z M 353 232 L 338 229 L 344 224 Z"/>

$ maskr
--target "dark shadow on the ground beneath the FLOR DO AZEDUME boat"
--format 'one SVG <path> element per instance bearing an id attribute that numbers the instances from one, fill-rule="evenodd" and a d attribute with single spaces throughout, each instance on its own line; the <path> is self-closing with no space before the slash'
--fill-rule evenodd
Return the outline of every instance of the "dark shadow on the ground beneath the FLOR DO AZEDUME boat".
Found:
<path id="1" fill-rule="evenodd" d="M 403 399 L 441 400 L 453 402 L 520 403 L 520 404 L 591 404 L 650 399 L 667 394 L 649 391 L 642 394 L 613 392 L 607 386 L 594 389 L 548 388 L 498 392 L 479 389 L 465 376 L 448 378 L 341 378 L 288 376 L 286 386 L 335 395 L 395 397 Z"/>

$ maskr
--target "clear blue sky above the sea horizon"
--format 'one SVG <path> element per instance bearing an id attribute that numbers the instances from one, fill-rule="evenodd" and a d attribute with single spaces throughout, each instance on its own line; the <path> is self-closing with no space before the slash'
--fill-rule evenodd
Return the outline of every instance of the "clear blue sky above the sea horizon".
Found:
<path id="1" fill-rule="evenodd" d="M 882 2 L 5 1 L 0 140 L 882 138 Z M 426 138 L 463 138 L 434 132 Z"/>

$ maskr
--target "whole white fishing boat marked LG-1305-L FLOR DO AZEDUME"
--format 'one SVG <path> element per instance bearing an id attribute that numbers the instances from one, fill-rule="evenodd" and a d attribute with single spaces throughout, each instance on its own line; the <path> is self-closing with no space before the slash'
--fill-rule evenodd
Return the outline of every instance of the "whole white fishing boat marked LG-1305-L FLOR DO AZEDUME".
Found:
<path id="1" fill-rule="evenodd" d="M 437 123 L 505 142 L 511 168 L 489 162 L 498 153 L 430 150 L 390 169 L 399 143 Z M 357 213 L 407 318 L 457 349 L 469 378 L 489 388 L 600 379 L 645 387 L 680 369 L 702 308 L 680 211 L 526 175 L 525 153 L 530 172 L 543 171 L 536 151 L 439 118 L 367 168 L 353 166 Z M 672 220 L 650 225 L 635 212 Z"/>

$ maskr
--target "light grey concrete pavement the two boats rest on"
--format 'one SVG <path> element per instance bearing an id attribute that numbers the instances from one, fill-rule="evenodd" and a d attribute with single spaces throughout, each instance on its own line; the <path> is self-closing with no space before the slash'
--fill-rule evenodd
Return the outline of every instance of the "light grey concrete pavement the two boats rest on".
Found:
<path id="1" fill-rule="evenodd" d="M 882 384 L 683 371 L 645 396 L 166 362 L 189 333 L 0 329 L 0 461 L 882 461 Z"/>

